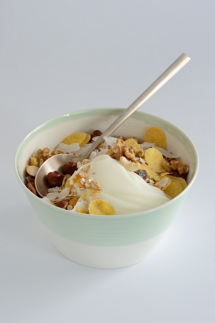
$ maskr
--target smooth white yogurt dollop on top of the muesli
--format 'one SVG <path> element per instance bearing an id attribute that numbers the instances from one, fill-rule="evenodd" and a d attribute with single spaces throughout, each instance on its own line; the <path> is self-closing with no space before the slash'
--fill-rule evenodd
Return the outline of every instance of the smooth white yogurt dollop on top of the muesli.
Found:
<path id="1" fill-rule="evenodd" d="M 99 155 L 90 163 L 92 168 L 88 176 L 96 180 L 104 191 L 91 197 L 87 189 L 80 190 L 77 183 L 74 184 L 78 196 L 86 193 L 88 203 L 102 199 L 114 207 L 116 214 L 131 214 L 152 209 L 169 201 L 161 190 L 149 185 L 138 174 L 127 171 L 119 161 L 108 155 Z M 73 184 L 72 178 L 77 172 L 79 171 L 70 177 L 70 184 Z"/>

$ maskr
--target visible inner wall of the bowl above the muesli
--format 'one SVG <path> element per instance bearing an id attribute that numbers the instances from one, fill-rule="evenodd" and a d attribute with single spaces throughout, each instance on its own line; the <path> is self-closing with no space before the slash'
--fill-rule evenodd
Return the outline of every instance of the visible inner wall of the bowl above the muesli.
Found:
<path id="1" fill-rule="evenodd" d="M 74 132 L 92 133 L 98 129 L 104 131 L 122 113 L 123 109 L 91 109 L 71 112 L 48 120 L 38 126 L 21 142 L 15 157 L 15 167 L 23 183 L 26 182 L 25 166 L 39 148 L 54 149 L 68 135 Z M 157 116 L 145 112 L 136 112 L 122 124 L 113 136 L 137 137 L 143 140 L 145 131 L 156 126 L 164 130 L 167 137 L 167 150 L 180 155 L 180 160 L 189 166 L 187 183 L 197 172 L 198 155 L 189 137 L 178 127 Z"/>

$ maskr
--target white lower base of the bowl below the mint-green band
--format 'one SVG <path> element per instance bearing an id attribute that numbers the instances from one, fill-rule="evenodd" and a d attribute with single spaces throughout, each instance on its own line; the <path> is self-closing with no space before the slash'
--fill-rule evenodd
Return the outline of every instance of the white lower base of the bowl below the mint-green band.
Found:
<path id="1" fill-rule="evenodd" d="M 126 267 L 146 259 L 157 250 L 167 232 L 134 245 L 100 247 L 65 239 L 47 228 L 46 231 L 53 245 L 66 258 L 79 265 L 103 269 Z"/>

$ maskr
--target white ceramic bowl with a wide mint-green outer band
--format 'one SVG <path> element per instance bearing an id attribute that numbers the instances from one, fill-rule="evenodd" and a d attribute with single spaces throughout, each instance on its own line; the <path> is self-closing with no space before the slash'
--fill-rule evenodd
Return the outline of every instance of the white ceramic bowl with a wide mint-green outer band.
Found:
<path id="1" fill-rule="evenodd" d="M 164 130 L 167 149 L 179 154 L 180 159 L 189 165 L 188 186 L 177 197 L 144 212 L 108 216 L 71 213 L 42 201 L 28 190 L 25 166 L 30 155 L 39 148 L 55 148 L 74 132 L 104 131 L 123 110 L 79 110 L 50 119 L 23 139 L 15 154 L 18 181 L 49 238 L 62 255 L 81 265 L 119 268 L 138 263 L 155 252 L 179 213 L 198 172 L 198 153 L 189 137 L 169 121 L 138 111 L 113 136 L 143 138 L 151 126 Z"/>

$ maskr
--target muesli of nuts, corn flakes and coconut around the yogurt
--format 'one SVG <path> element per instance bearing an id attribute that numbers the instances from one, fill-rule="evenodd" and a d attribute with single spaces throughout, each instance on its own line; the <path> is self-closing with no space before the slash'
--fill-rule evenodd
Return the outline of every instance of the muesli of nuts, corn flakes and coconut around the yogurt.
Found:
<path id="1" fill-rule="evenodd" d="M 65 138 L 54 150 L 47 147 L 38 149 L 33 156 L 30 156 L 29 163 L 26 165 L 28 189 L 38 196 L 34 181 L 44 161 L 61 153 L 67 153 L 73 157 L 78 156 L 86 151 L 101 134 L 100 130 L 95 130 L 91 135 L 77 132 Z M 155 193 L 160 190 L 162 196 L 168 200 L 175 198 L 187 186 L 186 176 L 189 168 L 179 160 L 179 155 L 166 150 L 166 144 L 164 131 L 157 127 L 148 128 L 142 142 L 136 137 L 104 137 L 104 142 L 90 154 L 89 159 L 77 158 L 63 165 L 63 173 L 55 171 L 47 174 L 50 189 L 43 200 L 72 212 L 99 215 L 118 214 L 110 204 L 111 201 L 100 198 L 102 192 L 105 193 L 106 185 L 103 183 L 101 187 L 97 180 L 97 172 L 92 172 L 92 166 L 96 170 L 95 161 L 97 165 L 99 165 L 98 161 L 103 162 L 101 158 L 98 158 L 100 155 L 108 155 L 109 163 L 110 160 L 116 161 L 114 164 L 111 163 L 111 167 L 120 165 L 127 170 L 125 176 L 131 175 L 129 172 L 135 173 L 135 175 L 132 174 L 132 181 L 139 181 L 141 178 L 142 181 L 154 187 L 150 190 L 154 190 Z M 121 172 L 123 169 L 119 170 Z M 165 201 L 160 203 L 165 203 Z"/>

